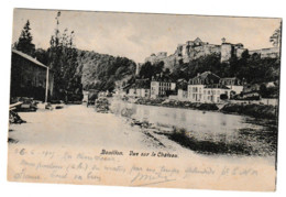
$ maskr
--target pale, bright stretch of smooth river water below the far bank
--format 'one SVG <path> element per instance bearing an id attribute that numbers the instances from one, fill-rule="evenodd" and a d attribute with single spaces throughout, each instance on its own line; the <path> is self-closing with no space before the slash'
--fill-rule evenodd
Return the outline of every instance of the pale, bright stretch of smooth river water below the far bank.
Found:
<path id="1" fill-rule="evenodd" d="M 245 117 L 223 114 L 220 112 L 205 112 L 190 109 L 143 106 L 113 100 L 111 110 L 120 114 L 123 109 L 132 110 L 131 118 L 151 123 L 168 124 L 197 132 L 233 134 L 245 128 L 261 128 L 245 121 Z"/>

